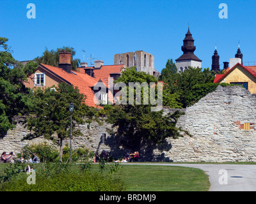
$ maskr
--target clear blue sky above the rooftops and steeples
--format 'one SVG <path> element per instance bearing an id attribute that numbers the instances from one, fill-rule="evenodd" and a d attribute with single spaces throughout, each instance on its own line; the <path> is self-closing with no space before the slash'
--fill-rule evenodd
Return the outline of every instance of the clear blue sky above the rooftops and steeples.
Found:
<path id="1" fill-rule="evenodd" d="M 104 64 L 114 55 L 143 50 L 155 57 L 155 68 L 182 55 L 188 22 L 202 68 L 211 68 L 217 43 L 223 61 L 235 57 L 238 42 L 244 62 L 256 61 L 255 0 L 0 0 L 0 36 L 9 38 L 13 57 L 19 61 L 69 46 L 76 58 L 90 54 Z M 36 6 L 36 18 L 27 18 L 28 3 Z M 219 4 L 228 6 L 228 18 L 219 18 Z M 89 61 L 88 61 L 89 62 Z"/>

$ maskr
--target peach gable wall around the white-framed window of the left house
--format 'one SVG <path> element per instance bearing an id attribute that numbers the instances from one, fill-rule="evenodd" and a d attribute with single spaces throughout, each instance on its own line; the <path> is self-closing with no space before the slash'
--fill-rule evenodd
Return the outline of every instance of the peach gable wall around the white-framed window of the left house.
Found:
<path id="1" fill-rule="evenodd" d="M 54 77 L 54 75 L 45 71 L 40 66 L 38 66 L 38 69 L 36 69 L 35 73 L 45 73 L 45 86 L 44 87 L 52 87 L 52 85 L 57 86 L 58 84 L 60 84 L 62 82 L 59 78 Z M 33 87 L 43 87 L 42 85 L 36 85 L 35 86 L 35 73 L 33 73 L 32 75 L 29 75 L 28 76 L 28 81 L 24 82 L 24 85 L 26 87 L 29 87 L 31 89 Z"/>

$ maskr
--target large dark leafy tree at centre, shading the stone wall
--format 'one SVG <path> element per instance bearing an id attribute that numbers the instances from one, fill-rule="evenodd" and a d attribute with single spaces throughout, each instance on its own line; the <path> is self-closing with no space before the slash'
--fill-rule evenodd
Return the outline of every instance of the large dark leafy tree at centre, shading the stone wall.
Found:
<path id="1" fill-rule="evenodd" d="M 126 69 L 122 76 L 115 81 L 115 83 L 117 82 L 123 82 L 126 85 L 129 85 L 130 82 L 139 82 L 140 84 L 147 82 L 149 84 L 150 82 L 156 83 L 157 79 L 145 72 L 138 72 L 135 67 L 132 67 Z M 148 87 L 145 88 L 149 89 Z M 175 97 L 173 96 L 173 101 L 169 98 L 168 103 L 175 103 Z M 143 94 L 141 94 L 141 98 L 143 98 Z M 134 101 L 136 99 L 134 97 Z M 163 116 L 163 110 L 152 112 L 150 103 L 148 105 L 144 103 L 141 105 L 134 104 L 114 105 L 113 109 L 108 112 L 107 121 L 113 124 L 114 133 L 118 135 L 120 145 L 136 150 L 147 147 L 147 145 L 161 144 L 169 136 L 173 138 L 181 136 L 181 129 L 176 128 L 175 125 L 182 113 L 175 112 Z"/>

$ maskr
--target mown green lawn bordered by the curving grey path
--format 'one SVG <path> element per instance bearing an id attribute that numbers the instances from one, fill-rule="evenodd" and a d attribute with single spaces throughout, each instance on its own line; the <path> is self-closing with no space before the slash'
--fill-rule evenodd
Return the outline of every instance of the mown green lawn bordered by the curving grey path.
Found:
<path id="1" fill-rule="evenodd" d="M 208 191 L 208 176 L 196 168 L 122 165 L 125 191 Z"/>

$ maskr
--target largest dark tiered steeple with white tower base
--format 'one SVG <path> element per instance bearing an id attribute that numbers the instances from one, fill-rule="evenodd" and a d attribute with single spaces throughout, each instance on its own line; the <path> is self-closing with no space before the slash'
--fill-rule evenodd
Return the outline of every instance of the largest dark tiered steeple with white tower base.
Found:
<path id="1" fill-rule="evenodd" d="M 196 50 L 196 47 L 194 46 L 194 41 L 195 40 L 193 39 L 188 26 L 188 32 L 186 33 L 186 36 L 183 40 L 183 46 L 181 47 L 183 54 L 175 60 L 179 72 L 188 69 L 189 66 L 192 66 L 193 68 L 201 67 L 202 60 L 200 60 L 194 54 Z"/>

